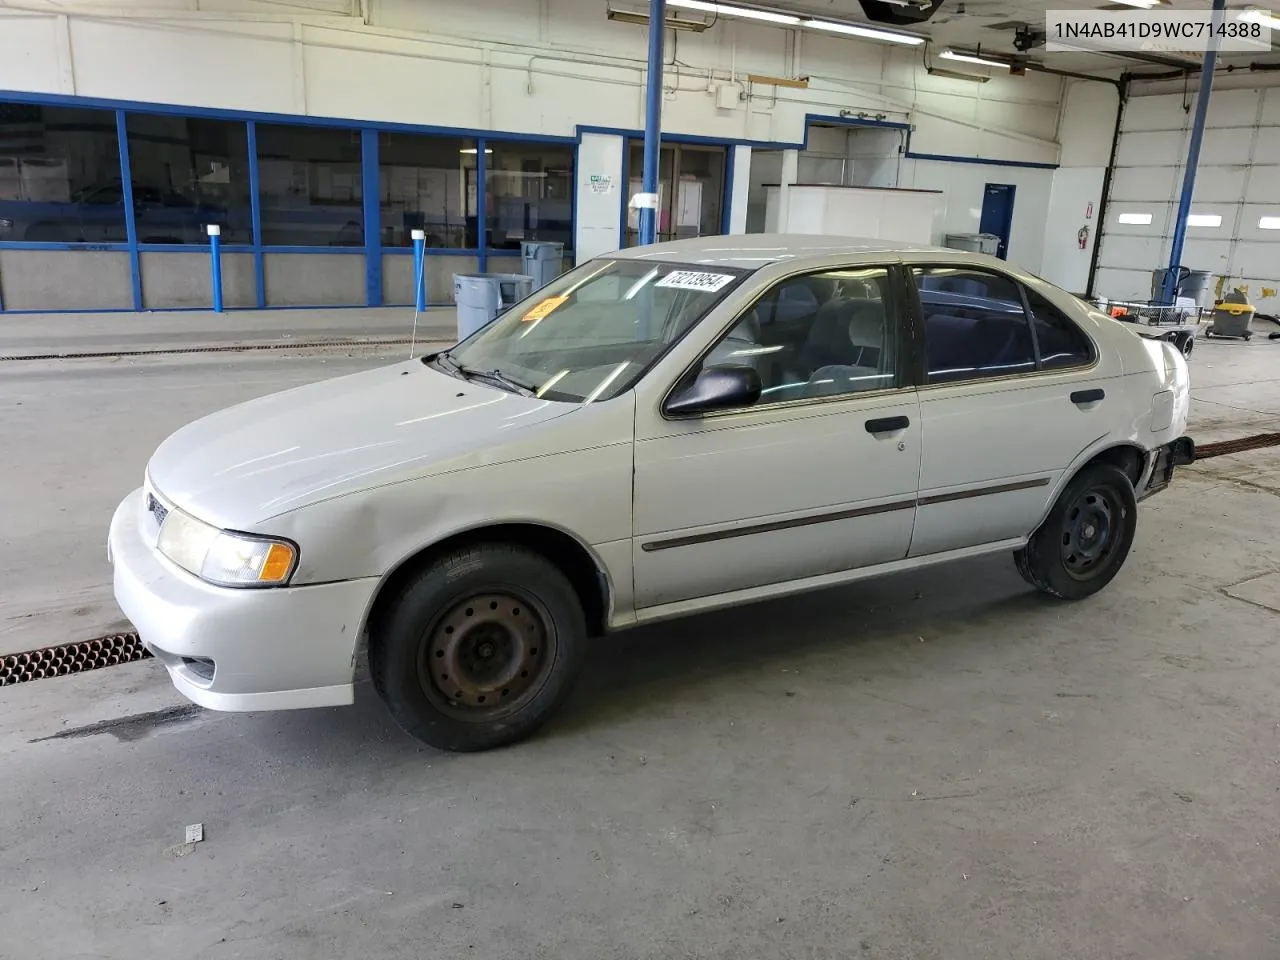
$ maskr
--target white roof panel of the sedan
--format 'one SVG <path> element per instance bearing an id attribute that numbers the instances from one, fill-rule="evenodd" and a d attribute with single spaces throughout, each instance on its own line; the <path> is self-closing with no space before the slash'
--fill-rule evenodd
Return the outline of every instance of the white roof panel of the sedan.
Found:
<path id="1" fill-rule="evenodd" d="M 804 233 L 746 233 L 730 237 L 691 237 L 627 247 L 609 257 L 625 260 L 675 260 L 686 264 L 736 266 L 759 270 L 772 264 L 826 260 L 833 256 L 868 257 L 911 256 L 918 253 L 955 255 L 959 251 L 900 241 L 863 237 L 829 237 Z M 983 257 L 974 257 L 983 259 Z"/>

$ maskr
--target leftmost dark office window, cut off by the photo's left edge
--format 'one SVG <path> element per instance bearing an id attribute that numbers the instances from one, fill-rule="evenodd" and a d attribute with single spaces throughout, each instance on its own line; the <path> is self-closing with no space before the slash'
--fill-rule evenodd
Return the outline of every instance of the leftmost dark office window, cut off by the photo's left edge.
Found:
<path id="1" fill-rule="evenodd" d="M 125 238 L 115 114 L 0 104 L 0 241 Z"/>

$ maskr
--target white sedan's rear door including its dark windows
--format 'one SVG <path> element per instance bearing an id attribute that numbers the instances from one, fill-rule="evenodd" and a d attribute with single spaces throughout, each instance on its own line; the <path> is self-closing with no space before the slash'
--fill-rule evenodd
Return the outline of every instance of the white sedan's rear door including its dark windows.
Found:
<path id="1" fill-rule="evenodd" d="M 1108 430 L 1096 347 L 1005 274 L 920 265 L 911 278 L 925 346 L 911 556 L 1025 536 Z"/>

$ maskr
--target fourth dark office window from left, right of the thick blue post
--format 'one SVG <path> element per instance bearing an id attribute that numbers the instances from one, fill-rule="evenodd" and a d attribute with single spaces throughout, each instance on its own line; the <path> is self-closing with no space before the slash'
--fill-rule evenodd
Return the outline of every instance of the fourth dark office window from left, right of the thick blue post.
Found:
<path id="1" fill-rule="evenodd" d="M 429 248 L 476 246 L 474 140 L 379 133 L 378 164 L 384 247 L 412 246 L 419 229 Z"/>

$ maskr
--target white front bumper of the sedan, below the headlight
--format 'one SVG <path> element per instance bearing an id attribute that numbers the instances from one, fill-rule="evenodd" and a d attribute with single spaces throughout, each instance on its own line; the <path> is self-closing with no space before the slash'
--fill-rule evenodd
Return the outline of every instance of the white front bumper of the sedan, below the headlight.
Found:
<path id="1" fill-rule="evenodd" d="M 212 710 L 349 704 L 376 579 L 244 590 L 179 570 L 148 541 L 141 489 L 111 518 L 115 599 L 178 691 Z"/>

